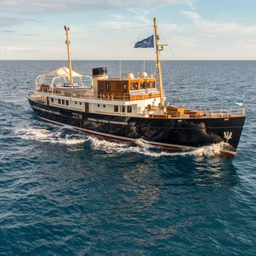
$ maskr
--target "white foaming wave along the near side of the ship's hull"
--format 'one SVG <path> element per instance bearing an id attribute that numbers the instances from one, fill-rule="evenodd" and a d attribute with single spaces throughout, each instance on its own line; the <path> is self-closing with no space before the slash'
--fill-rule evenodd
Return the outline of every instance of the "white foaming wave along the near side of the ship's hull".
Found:
<path id="1" fill-rule="evenodd" d="M 25 140 L 34 140 L 38 142 L 49 142 L 54 144 L 64 145 L 80 145 L 89 141 L 91 148 L 113 156 L 118 153 L 139 153 L 145 156 L 161 157 L 161 156 L 218 156 L 229 144 L 221 142 L 201 148 L 196 148 L 192 151 L 167 151 L 162 148 L 156 148 L 154 145 L 143 142 L 142 139 L 136 139 L 134 143 L 115 142 L 101 139 L 97 136 L 89 136 L 85 134 L 66 134 L 65 128 L 58 128 L 58 131 L 49 131 L 44 128 L 23 128 L 15 131 L 15 136 Z"/>

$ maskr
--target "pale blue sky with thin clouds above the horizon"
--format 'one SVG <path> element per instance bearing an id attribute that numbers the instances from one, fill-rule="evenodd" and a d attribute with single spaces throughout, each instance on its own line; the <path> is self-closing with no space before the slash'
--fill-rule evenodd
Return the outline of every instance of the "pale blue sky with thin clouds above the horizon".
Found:
<path id="1" fill-rule="evenodd" d="M 256 0 L 0 0 L 1 60 L 154 59 L 134 44 L 153 35 L 165 60 L 256 60 Z"/>

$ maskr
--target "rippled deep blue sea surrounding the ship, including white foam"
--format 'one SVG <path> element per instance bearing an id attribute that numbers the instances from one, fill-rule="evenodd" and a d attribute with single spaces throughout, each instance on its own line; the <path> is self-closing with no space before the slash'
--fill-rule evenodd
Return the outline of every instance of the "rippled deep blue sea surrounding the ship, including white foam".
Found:
<path id="1" fill-rule="evenodd" d="M 144 71 L 142 61 L 121 64 L 122 75 Z M 164 151 L 38 120 L 27 91 L 63 65 L 0 61 L 0 255 L 256 255 L 256 61 L 162 66 L 171 104 L 244 100 L 234 158 L 218 146 Z M 75 62 L 82 74 L 101 66 L 120 74 L 119 61 Z"/>

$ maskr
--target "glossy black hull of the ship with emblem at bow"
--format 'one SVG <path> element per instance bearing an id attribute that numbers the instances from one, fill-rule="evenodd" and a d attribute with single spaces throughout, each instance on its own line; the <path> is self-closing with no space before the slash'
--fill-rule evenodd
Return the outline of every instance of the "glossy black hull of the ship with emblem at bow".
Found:
<path id="1" fill-rule="evenodd" d="M 29 102 L 35 114 L 49 122 L 72 125 L 108 138 L 128 141 L 145 139 L 153 145 L 177 149 L 228 142 L 228 151 L 235 153 L 245 120 L 244 116 L 195 119 L 125 117 L 58 108 L 30 98 Z"/>

